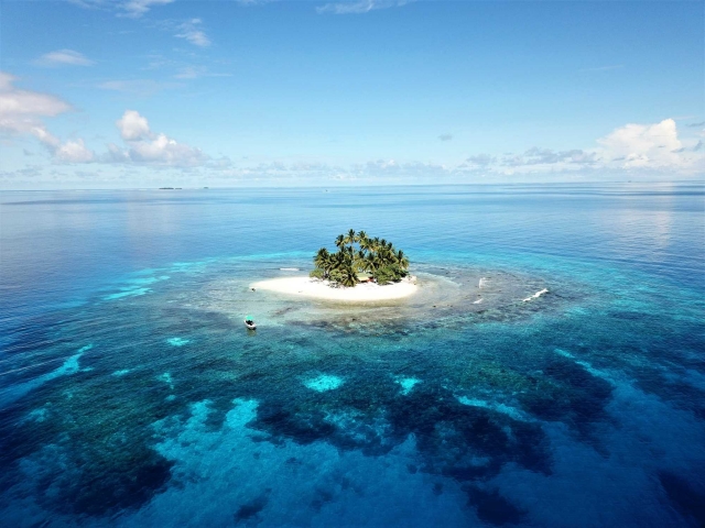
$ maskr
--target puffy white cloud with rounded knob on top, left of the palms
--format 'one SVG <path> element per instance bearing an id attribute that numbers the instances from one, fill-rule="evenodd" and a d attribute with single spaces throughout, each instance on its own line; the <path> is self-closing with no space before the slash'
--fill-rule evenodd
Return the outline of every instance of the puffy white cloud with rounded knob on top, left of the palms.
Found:
<path id="1" fill-rule="evenodd" d="M 108 145 L 106 162 L 189 167 L 208 158 L 199 148 L 178 143 L 166 134 L 153 133 L 147 118 L 135 110 L 127 110 L 116 125 L 128 147 Z"/>

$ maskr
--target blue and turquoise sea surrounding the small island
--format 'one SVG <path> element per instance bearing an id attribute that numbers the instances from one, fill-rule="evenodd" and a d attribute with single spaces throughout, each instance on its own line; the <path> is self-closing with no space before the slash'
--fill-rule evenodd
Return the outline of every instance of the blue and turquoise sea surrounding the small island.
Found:
<path id="1" fill-rule="evenodd" d="M 3 527 L 705 526 L 702 183 L 8 191 L 0 292 Z"/>

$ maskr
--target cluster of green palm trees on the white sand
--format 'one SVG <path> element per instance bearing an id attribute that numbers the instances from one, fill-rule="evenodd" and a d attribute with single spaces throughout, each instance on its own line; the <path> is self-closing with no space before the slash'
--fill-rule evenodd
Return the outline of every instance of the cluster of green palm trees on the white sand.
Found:
<path id="1" fill-rule="evenodd" d="M 316 265 L 312 277 L 325 278 L 343 286 L 355 286 L 358 273 L 369 274 L 378 284 L 388 284 L 405 277 L 409 258 L 384 239 L 370 239 L 365 231 L 350 229 L 335 239 L 338 251 L 330 253 L 321 248 L 314 256 Z"/>

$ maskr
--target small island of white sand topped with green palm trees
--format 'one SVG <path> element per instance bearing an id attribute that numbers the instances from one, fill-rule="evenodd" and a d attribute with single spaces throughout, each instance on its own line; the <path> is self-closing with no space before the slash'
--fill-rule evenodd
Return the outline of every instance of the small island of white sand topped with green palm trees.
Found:
<path id="1" fill-rule="evenodd" d="M 289 295 L 341 301 L 400 299 L 413 295 L 415 277 L 409 258 L 391 242 L 350 229 L 335 240 L 337 251 L 321 248 L 308 277 L 285 277 L 250 285 Z"/>

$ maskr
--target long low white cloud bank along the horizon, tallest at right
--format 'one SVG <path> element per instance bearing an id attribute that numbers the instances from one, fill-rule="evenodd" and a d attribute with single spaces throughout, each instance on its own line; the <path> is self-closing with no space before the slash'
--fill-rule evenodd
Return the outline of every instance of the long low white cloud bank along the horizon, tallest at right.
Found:
<path id="1" fill-rule="evenodd" d="M 681 152 L 671 152 L 674 146 Z M 381 158 L 347 166 L 322 163 L 260 163 L 236 166 L 229 160 L 209 163 L 223 178 L 285 178 L 349 182 L 468 182 L 514 178 L 529 182 L 567 178 L 672 178 L 703 174 L 705 141 L 681 140 L 672 120 L 652 124 L 627 124 L 596 140 L 588 148 L 554 150 L 533 146 L 521 153 L 476 154 L 460 164 Z M 218 168 L 215 168 L 217 165 Z"/>

